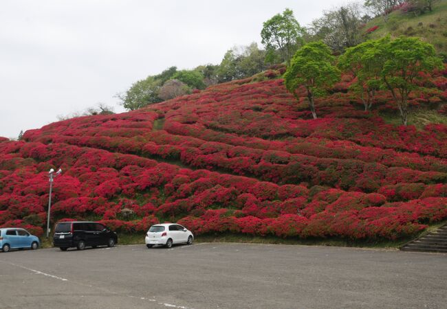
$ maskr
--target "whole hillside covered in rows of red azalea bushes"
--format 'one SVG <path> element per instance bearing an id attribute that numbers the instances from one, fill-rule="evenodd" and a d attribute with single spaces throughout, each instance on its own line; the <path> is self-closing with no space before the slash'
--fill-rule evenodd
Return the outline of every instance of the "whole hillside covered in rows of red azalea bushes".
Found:
<path id="1" fill-rule="evenodd" d="M 412 98 L 444 119 L 438 92 Z M 447 218 L 447 126 L 387 124 L 344 76 L 317 101 L 319 119 L 279 71 L 218 84 L 118 115 L 78 117 L 0 142 L 0 225 L 42 233 L 52 222 L 102 220 L 122 232 L 178 221 L 197 234 L 395 240 Z M 444 91 L 444 92 L 443 92 Z M 391 111 L 391 112 L 389 112 Z"/>

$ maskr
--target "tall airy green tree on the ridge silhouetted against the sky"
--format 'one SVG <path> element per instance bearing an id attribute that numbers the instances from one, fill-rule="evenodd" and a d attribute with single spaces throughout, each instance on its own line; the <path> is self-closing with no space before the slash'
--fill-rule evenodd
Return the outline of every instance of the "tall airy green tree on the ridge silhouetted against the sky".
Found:
<path id="1" fill-rule="evenodd" d="M 270 62 L 272 62 L 272 56 L 276 50 L 279 50 L 281 62 L 285 61 L 287 65 L 290 64 L 290 59 L 296 49 L 303 43 L 303 34 L 304 29 L 296 21 L 292 10 L 288 8 L 284 10 L 283 14 L 276 14 L 265 21 L 261 30 L 261 38 L 270 56 Z"/>

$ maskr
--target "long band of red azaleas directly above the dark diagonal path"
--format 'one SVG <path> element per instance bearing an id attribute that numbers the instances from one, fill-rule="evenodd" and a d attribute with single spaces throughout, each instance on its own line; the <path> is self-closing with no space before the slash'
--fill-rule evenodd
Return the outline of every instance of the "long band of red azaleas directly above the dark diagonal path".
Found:
<path id="1" fill-rule="evenodd" d="M 154 135 L 152 135 L 154 136 Z M 447 181 L 443 172 L 422 172 L 408 168 L 387 168 L 380 163 L 365 163 L 351 159 L 320 158 L 308 155 L 290 154 L 285 151 L 261 150 L 243 146 L 230 146 L 217 142 L 185 140 L 182 136 L 153 138 L 168 144 L 144 143 L 132 139 L 122 144 L 119 138 L 109 137 L 67 137 L 52 135 L 52 141 L 68 142 L 82 146 L 95 146 L 113 151 L 162 158 L 178 159 L 195 168 L 224 169 L 227 172 L 246 176 L 255 175 L 264 181 L 274 183 L 308 183 L 329 185 L 345 190 L 375 192 L 384 185 L 396 183 L 435 184 Z M 180 144 L 181 143 L 181 144 Z M 179 144 L 179 145 L 176 145 Z M 446 165 L 439 163 L 439 169 Z"/>

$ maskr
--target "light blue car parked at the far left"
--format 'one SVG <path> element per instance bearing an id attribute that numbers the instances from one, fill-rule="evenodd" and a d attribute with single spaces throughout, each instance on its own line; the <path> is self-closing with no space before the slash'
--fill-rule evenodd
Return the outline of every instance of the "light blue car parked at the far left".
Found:
<path id="1" fill-rule="evenodd" d="M 32 236 L 26 229 L 16 227 L 3 227 L 0 229 L 0 249 L 8 252 L 10 249 L 29 248 L 36 250 L 41 242 Z"/>

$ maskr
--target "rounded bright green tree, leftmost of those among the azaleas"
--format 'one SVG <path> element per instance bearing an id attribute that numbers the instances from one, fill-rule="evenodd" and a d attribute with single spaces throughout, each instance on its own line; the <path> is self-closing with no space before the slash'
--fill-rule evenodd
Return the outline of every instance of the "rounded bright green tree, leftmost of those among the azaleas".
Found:
<path id="1" fill-rule="evenodd" d="M 291 65 L 285 71 L 284 80 L 287 91 L 299 100 L 296 90 L 305 87 L 309 108 L 316 119 L 314 98 L 323 95 L 325 90 L 340 80 L 340 70 L 332 65 L 334 56 L 325 43 L 318 41 L 308 43 L 298 49 Z"/>

